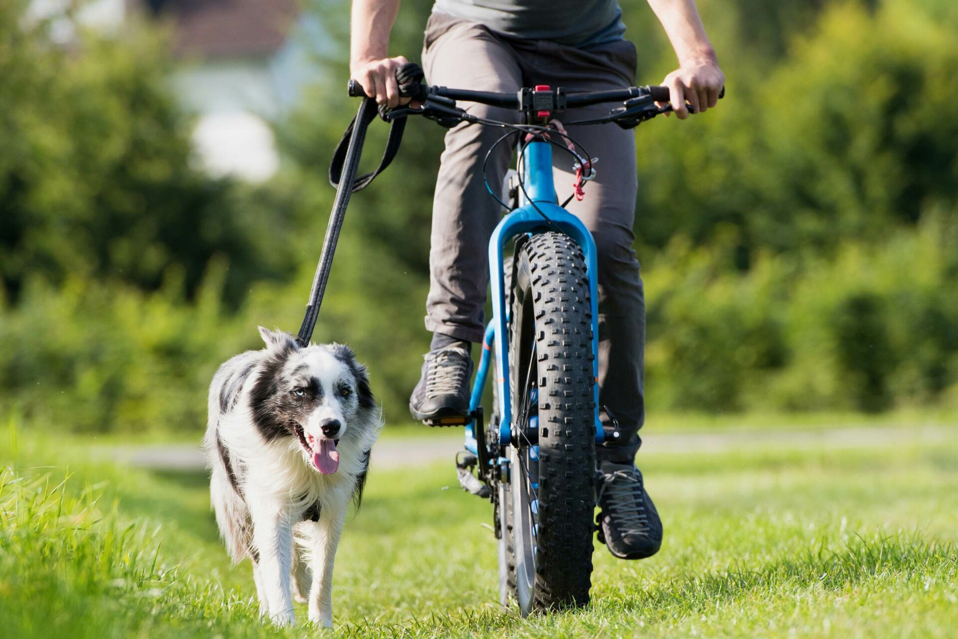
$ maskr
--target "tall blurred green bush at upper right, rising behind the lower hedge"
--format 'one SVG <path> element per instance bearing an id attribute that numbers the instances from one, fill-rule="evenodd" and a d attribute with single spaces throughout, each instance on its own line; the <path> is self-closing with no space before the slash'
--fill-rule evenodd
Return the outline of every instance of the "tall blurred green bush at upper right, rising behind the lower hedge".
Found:
<path id="1" fill-rule="evenodd" d="M 764 248 L 832 250 L 953 208 L 956 25 L 914 3 L 840 3 L 770 71 L 728 68 L 719 108 L 639 128 L 637 237 L 707 243 L 732 225 L 747 267 Z"/>

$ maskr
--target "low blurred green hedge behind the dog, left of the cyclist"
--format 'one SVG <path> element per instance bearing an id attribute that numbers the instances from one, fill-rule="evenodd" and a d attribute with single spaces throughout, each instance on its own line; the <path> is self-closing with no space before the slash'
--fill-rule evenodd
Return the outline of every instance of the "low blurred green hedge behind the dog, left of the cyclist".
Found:
<path id="1" fill-rule="evenodd" d="M 390 420 L 405 422 L 427 335 L 397 315 L 418 316 L 424 284 L 410 288 L 388 257 L 368 262 L 354 235 L 344 234 L 337 259 L 353 267 L 333 269 L 313 339 L 352 345 L 373 364 L 373 390 Z M 69 430 L 201 432 L 217 366 L 262 348 L 257 325 L 297 331 L 312 278 L 308 266 L 288 285 L 254 285 L 233 309 L 222 302 L 227 270 L 211 262 L 192 301 L 172 277 L 153 292 L 34 278 L 16 308 L 0 308 L 0 343 L 9 345 L 0 350 L 0 405 Z"/>

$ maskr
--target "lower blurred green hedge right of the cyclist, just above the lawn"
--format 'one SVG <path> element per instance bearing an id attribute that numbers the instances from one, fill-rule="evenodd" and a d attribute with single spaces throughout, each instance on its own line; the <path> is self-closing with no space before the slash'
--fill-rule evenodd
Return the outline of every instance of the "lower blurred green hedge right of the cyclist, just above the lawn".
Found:
<path id="1" fill-rule="evenodd" d="M 734 242 L 729 242 L 734 243 Z M 830 258 L 673 242 L 647 276 L 650 409 L 860 410 L 958 398 L 958 222 Z"/>

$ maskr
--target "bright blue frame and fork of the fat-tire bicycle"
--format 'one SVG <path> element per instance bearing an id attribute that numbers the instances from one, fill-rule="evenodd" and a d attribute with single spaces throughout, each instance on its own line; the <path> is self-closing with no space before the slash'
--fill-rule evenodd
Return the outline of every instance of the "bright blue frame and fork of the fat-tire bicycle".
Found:
<path id="1" fill-rule="evenodd" d="M 495 347 L 494 383 L 498 385 L 499 399 L 499 444 L 509 445 L 512 441 L 513 406 L 509 391 L 509 331 L 510 309 L 506 307 L 505 272 L 503 270 L 503 251 L 509 240 L 522 234 L 535 235 L 553 230 L 556 227 L 579 243 L 585 257 L 585 266 L 589 281 L 589 299 L 592 306 L 592 376 L 598 382 L 599 377 L 599 310 L 597 290 L 597 257 L 596 244 L 592 234 L 582 224 L 582 220 L 573 216 L 559 206 L 556 198 L 556 187 L 553 182 L 552 145 L 548 142 L 534 140 L 522 149 L 522 166 L 524 167 L 524 193 L 520 192 L 520 206 L 503 217 L 489 242 L 489 268 L 492 288 L 492 320 L 486 328 L 483 340 L 483 351 L 479 361 L 479 368 L 472 385 L 472 396 L 469 400 L 469 413 L 472 421 L 466 426 L 466 448 L 476 453 L 474 420 L 479 414 L 483 390 L 489 377 L 492 366 L 492 347 Z M 528 197 L 527 197 L 528 195 Z M 535 206 L 533 205 L 535 203 Z M 536 211 L 538 209 L 538 211 Z M 549 217 L 552 223 L 542 218 Z M 599 384 L 595 384 L 595 440 L 596 444 L 604 442 L 604 430 L 599 421 Z"/>

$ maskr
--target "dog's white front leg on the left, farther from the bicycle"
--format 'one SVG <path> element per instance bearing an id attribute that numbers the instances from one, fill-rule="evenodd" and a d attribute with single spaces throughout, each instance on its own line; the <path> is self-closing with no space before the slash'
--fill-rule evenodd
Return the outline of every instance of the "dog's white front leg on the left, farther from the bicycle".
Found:
<path id="1" fill-rule="evenodd" d="M 294 621 L 289 583 L 293 558 L 292 524 L 281 504 L 266 499 L 249 501 L 253 543 L 260 552 L 256 570 L 261 609 L 264 605 L 269 618 L 277 626 L 288 626 Z"/>

